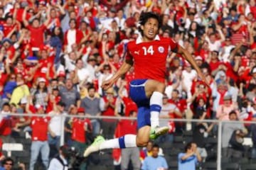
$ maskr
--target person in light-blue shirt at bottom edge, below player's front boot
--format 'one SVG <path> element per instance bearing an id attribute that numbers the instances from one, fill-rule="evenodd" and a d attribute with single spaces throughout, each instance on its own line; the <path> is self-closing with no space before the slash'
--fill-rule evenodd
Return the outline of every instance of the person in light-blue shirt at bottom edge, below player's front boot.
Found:
<path id="1" fill-rule="evenodd" d="M 168 164 L 164 157 L 159 156 L 159 145 L 153 145 L 152 156 L 146 157 L 142 164 L 142 170 L 168 169 Z"/>

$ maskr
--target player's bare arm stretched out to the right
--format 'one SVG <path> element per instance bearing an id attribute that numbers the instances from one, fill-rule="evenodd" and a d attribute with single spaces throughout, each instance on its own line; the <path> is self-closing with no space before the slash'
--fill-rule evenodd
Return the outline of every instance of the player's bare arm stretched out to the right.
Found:
<path id="1" fill-rule="evenodd" d="M 196 69 L 196 72 L 198 73 L 198 76 L 201 78 L 201 80 L 207 84 L 206 77 L 203 76 L 201 69 L 198 67 L 191 54 L 189 54 L 189 52 L 181 46 L 178 46 L 178 54 L 181 54 L 183 57 L 185 57 L 185 59 L 192 65 L 192 67 Z"/>

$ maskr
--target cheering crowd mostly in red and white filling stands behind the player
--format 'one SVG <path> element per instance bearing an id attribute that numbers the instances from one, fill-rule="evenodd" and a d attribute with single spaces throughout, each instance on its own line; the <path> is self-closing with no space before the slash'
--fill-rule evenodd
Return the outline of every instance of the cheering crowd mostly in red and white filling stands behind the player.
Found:
<path id="1" fill-rule="evenodd" d="M 185 47 L 210 84 L 198 79 L 182 56 L 169 53 L 160 116 L 166 118 L 161 123 L 170 126 L 170 135 L 160 140 L 172 142 L 174 129 L 191 130 L 189 123 L 168 118 L 256 120 L 255 0 L 0 0 L 0 147 L 28 132 L 32 170 L 40 152 L 46 167 L 52 149 L 58 153 L 62 124 L 65 144 L 81 153 L 100 130 L 108 139 L 136 134 L 130 120 L 90 116 L 136 116 L 137 106 L 128 95 L 133 69 L 112 89 L 102 91 L 100 85 L 121 66 L 127 42 L 139 36 L 143 11 L 162 16 L 159 35 Z M 63 121 L 60 114 L 86 118 Z M 199 136 L 202 129 L 214 133 L 215 126 L 192 125 Z M 235 128 L 256 135 L 253 125 Z M 235 128 L 223 135 L 224 151 Z M 256 136 L 252 140 L 256 147 Z M 256 157 L 256 149 L 252 153 Z M 0 152 L 0 160 L 5 157 Z"/>

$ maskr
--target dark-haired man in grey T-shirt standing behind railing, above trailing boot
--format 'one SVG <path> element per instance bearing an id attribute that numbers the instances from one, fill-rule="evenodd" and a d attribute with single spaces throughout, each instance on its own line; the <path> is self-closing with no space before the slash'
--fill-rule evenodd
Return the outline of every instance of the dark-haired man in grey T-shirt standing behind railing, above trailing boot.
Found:
<path id="1" fill-rule="evenodd" d="M 82 98 L 81 107 L 85 108 L 85 115 L 90 116 L 100 116 L 100 98 L 96 96 L 96 89 L 93 86 L 88 88 L 88 95 L 85 98 Z M 97 119 L 90 119 L 92 123 L 92 132 L 93 135 L 100 133 L 100 121 Z"/>

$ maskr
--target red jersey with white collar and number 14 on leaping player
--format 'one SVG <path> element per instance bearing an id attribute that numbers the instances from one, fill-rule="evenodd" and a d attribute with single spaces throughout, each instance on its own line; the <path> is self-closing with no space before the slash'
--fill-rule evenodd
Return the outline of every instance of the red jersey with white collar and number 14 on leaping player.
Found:
<path id="1" fill-rule="evenodd" d="M 178 44 L 171 38 L 160 38 L 158 35 L 151 42 L 142 42 L 140 37 L 128 42 L 126 60 L 134 61 L 135 79 L 154 79 L 164 82 L 169 49 L 177 52 Z"/>

